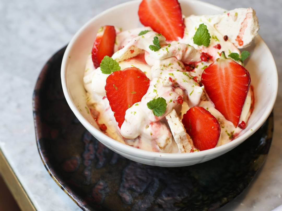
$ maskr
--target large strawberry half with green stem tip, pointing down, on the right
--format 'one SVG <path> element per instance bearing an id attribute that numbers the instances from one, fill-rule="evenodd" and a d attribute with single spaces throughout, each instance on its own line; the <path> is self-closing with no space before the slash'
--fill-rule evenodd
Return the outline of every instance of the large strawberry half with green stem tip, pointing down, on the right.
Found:
<path id="1" fill-rule="evenodd" d="M 251 83 L 248 70 L 222 51 L 204 70 L 201 82 L 215 108 L 237 127 Z"/>

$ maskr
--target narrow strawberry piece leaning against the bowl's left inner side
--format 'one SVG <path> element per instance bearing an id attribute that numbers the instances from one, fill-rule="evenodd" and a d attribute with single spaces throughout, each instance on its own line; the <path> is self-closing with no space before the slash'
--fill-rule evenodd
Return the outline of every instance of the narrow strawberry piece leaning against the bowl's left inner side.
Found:
<path id="1" fill-rule="evenodd" d="M 111 57 L 114 54 L 115 40 L 116 30 L 114 26 L 102 26 L 98 30 L 91 52 L 95 68 L 100 67 L 100 63 L 105 56 Z"/>

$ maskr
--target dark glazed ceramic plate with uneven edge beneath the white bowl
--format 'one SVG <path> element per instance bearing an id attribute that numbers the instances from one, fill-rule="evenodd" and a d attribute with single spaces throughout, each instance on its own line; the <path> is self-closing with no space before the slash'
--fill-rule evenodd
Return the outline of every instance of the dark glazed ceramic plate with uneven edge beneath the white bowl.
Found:
<path id="1" fill-rule="evenodd" d="M 64 51 L 47 62 L 36 83 L 36 141 L 51 177 L 83 210 L 214 210 L 238 196 L 265 161 L 272 114 L 244 143 L 205 163 L 163 168 L 123 158 L 70 110 L 61 87 Z"/>

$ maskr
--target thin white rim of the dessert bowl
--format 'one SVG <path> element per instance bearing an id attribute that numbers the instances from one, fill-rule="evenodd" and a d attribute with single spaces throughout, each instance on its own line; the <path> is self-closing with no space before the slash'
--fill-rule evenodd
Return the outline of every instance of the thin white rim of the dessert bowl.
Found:
<path id="1" fill-rule="evenodd" d="M 206 2 L 202 2 L 202 1 L 198 1 L 198 0 L 182 0 L 182 1 L 188 1 L 190 3 L 196 3 L 196 4 L 202 4 L 202 5 L 206 5 L 210 8 L 214 8 L 216 10 L 224 10 L 221 7 L 212 5 L 210 3 L 206 3 Z M 145 158 L 145 157 L 150 157 L 149 159 L 153 159 L 156 158 L 158 160 L 160 160 L 160 158 L 162 160 L 175 160 L 175 161 L 181 161 L 181 160 L 196 160 L 199 158 L 203 158 L 205 156 L 210 156 L 212 154 L 223 154 L 225 152 L 228 152 L 229 150 L 233 149 L 234 147 L 236 147 L 237 145 L 239 145 L 240 143 L 244 142 L 248 137 L 250 137 L 252 134 L 255 133 L 255 131 L 257 131 L 257 129 L 259 129 L 261 127 L 261 125 L 265 122 L 265 120 L 268 118 L 268 116 L 270 115 L 273 107 L 274 107 L 274 103 L 276 101 L 277 98 L 277 92 L 278 92 L 278 73 L 277 73 L 277 68 L 276 68 L 276 64 L 273 58 L 273 55 L 270 51 L 270 49 L 268 48 L 268 46 L 266 45 L 266 43 L 264 42 L 264 40 L 257 35 L 256 39 L 261 39 L 262 42 L 265 44 L 267 50 L 270 52 L 271 55 L 271 60 L 269 62 L 274 64 L 274 72 L 273 74 L 274 77 L 276 78 L 275 81 L 272 82 L 273 87 L 275 88 L 274 93 L 271 96 L 271 99 L 268 103 L 268 106 L 266 107 L 265 112 L 263 113 L 263 115 L 261 116 L 261 118 L 255 123 L 255 127 L 253 127 L 253 129 L 246 131 L 243 135 L 239 136 L 238 138 L 235 138 L 234 140 L 232 140 L 231 142 L 228 142 L 224 145 L 221 145 L 219 147 L 215 147 L 212 149 L 208 149 L 208 150 L 204 150 L 204 151 L 200 151 L 200 152 L 196 152 L 196 153 L 165 153 L 165 152 L 151 152 L 151 151 L 146 151 L 143 149 L 137 149 L 135 147 L 131 147 L 129 145 L 126 145 L 124 143 L 118 142 L 116 140 L 114 140 L 113 138 L 107 136 L 106 134 L 104 134 L 103 132 L 101 132 L 100 130 L 96 129 L 90 122 L 88 122 L 83 115 L 80 113 L 80 111 L 77 109 L 77 107 L 74 105 L 74 103 L 72 102 L 72 99 L 69 95 L 68 92 L 68 88 L 67 88 L 67 79 L 66 79 L 66 71 L 67 71 L 67 63 L 68 63 L 68 55 L 69 52 L 72 50 L 72 47 L 74 45 L 74 43 L 76 42 L 77 38 L 80 36 L 80 34 L 86 29 L 88 28 L 96 19 L 100 18 L 101 16 L 103 16 L 104 14 L 107 14 L 113 10 L 122 8 L 124 6 L 130 5 L 130 4 L 136 4 L 137 2 L 140 2 L 140 0 L 134 0 L 134 1 L 128 1 L 116 6 L 113 6 L 105 11 L 103 11 L 102 13 L 94 16 L 93 18 L 91 18 L 89 21 L 87 21 L 87 23 L 85 23 L 76 33 L 75 35 L 72 37 L 72 39 L 70 40 L 65 53 L 63 55 L 63 60 L 62 60 L 62 64 L 61 64 L 61 83 L 62 83 L 62 88 L 63 88 L 63 93 L 65 95 L 65 98 L 67 100 L 67 103 L 69 104 L 70 109 L 72 110 L 72 112 L 74 113 L 74 115 L 78 118 L 78 120 L 81 122 L 81 124 L 94 136 L 96 137 L 99 141 L 103 140 L 102 143 L 104 143 L 107 146 L 111 146 L 114 151 L 120 151 L 123 152 L 125 154 L 129 154 L 138 158 Z M 180 1 L 181 4 L 181 1 Z M 223 152 L 223 153 L 222 153 Z M 194 159 L 191 159 L 194 158 Z"/>

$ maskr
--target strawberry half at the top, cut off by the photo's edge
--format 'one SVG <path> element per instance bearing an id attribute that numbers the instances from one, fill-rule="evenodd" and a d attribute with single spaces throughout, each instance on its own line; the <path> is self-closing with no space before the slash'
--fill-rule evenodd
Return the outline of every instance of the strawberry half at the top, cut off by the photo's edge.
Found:
<path id="1" fill-rule="evenodd" d="M 143 0 L 138 15 L 144 26 L 150 26 L 167 40 L 183 38 L 184 22 L 177 0 Z"/>

